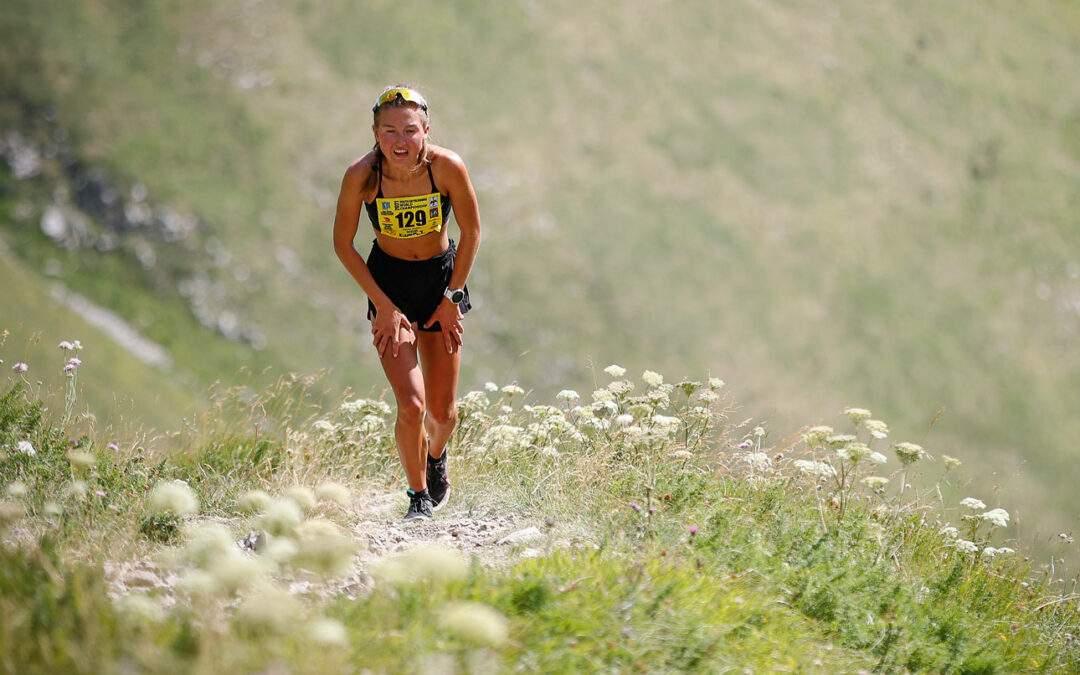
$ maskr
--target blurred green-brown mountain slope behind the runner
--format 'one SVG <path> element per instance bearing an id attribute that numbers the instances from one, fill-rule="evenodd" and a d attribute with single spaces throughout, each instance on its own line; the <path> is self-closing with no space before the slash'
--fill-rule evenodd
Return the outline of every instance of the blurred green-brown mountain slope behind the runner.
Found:
<path id="1" fill-rule="evenodd" d="M 464 388 L 708 372 L 772 438 L 869 407 L 1044 537 L 1080 516 L 1077 72 L 1065 0 L 8 0 L 0 328 L 162 428 L 242 369 L 380 391 L 330 228 L 407 82 L 481 200 Z"/>

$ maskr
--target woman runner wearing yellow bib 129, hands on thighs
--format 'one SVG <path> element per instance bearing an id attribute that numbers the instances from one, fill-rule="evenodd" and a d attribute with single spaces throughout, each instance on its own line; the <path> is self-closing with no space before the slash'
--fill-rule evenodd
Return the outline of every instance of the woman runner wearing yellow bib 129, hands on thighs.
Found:
<path id="1" fill-rule="evenodd" d="M 334 251 L 367 294 L 375 349 L 397 402 L 394 434 L 408 480 L 406 521 L 446 504 L 446 443 L 457 422 L 465 279 L 480 248 L 480 210 L 465 165 L 428 143 L 428 103 L 391 86 L 372 108 L 375 148 L 345 172 Z M 450 210 L 460 245 L 447 235 Z M 353 245 L 361 212 L 375 229 L 367 261 Z"/>

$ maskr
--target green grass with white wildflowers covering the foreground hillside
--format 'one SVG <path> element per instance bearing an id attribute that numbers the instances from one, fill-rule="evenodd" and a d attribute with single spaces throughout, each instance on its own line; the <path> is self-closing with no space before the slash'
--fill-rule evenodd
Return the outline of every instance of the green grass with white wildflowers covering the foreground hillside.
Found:
<path id="1" fill-rule="evenodd" d="M 30 390 L 10 389 L 0 397 L 3 670 L 976 674 L 1080 663 L 1066 586 L 1024 551 L 984 553 L 1013 542 L 978 509 L 963 517 L 947 498 L 901 487 L 956 469 L 902 464 L 861 422 L 836 430 L 885 453 L 883 464 L 845 459 L 839 450 L 855 446 L 824 430 L 768 446 L 764 429 L 731 423 L 730 401 L 707 382 L 625 392 L 625 380 L 602 377 L 607 393 L 586 397 L 608 407 L 510 392 L 459 405 L 448 517 L 498 505 L 537 523 L 537 557 L 517 548 L 487 565 L 421 546 L 367 566 L 374 583 L 352 599 L 294 597 L 284 584 L 312 579 L 301 564 L 329 565 L 329 578 L 347 569 L 340 556 L 355 543 L 340 532 L 356 504 L 321 501 L 296 521 L 281 508 L 299 497 L 257 507 L 262 519 L 240 504 L 251 489 L 396 483 L 381 402 L 347 392 L 324 407 L 318 378 L 231 389 L 180 434 L 118 451 L 93 434 L 72 447 Z M 36 455 L 17 451 L 25 440 Z M 818 480 L 801 470 L 810 460 L 840 473 Z M 878 491 L 859 482 L 869 469 L 889 478 Z M 201 516 L 153 505 L 157 486 L 177 478 Z M 299 549 L 241 555 L 232 542 L 253 527 Z M 103 564 L 133 554 L 172 561 L 175 604 L 160 589 L 110 599 Z"/>

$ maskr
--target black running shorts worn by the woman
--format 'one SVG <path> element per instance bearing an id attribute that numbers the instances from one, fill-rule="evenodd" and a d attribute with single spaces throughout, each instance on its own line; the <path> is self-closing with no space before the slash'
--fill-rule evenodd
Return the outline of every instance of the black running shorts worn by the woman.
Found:
<path id="1" fill-rule="evenodd" d="M 375 283 L 379 284 L 390 301 L 397 306 L 409 323 L 415 323 L 420 330 L 436 333 L 442 327 L 436 322 L 430 328 L 423 324 L 443 301 L 443 292 L 450 283 L 454 272 L 454 257 L 458 248 L 450 240 L 450 246 L 434 258 L 427 260 L 403 260 L 388 255 L 379 248 L 378 242 L 372 242 L 372 253 L 367 256 L 367 269 L 372 271 Z M 465 297 L 458 303 L 461 313 L 472 309 L 469 301 L 469 286 L 464 287 Z M 367 301 L 367 318 L 375 319 L 375 305 Z"/>

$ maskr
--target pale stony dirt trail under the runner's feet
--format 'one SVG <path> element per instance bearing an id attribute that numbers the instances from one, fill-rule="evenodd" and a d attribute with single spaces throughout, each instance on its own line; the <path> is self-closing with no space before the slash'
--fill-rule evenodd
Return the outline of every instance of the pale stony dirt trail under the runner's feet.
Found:
<path id="1" fill-rule="evenodd" d="M 442 545 L 459 551 L 465 558 L 476 556 L 485 567 L 499 567 L 513 557 L 540 555 L 540 548 L 546 540 L 538 528 L 522 525 L 516 514 L 470 515 L 463 509 L 456 510 L 453 500 L 435 513 L 432 521 L 421 523 L 402 521 L 407 503 L 400 492 L 369 492 L 359 496 L 353 503 L 345 521 L 347 531 L 359 543 L 359 551 L 349 573 L 324 581 L 301 571 L 291 571 L 275 576 L 275 581 L 297 594 L 355 598 L 370 590 L 373 581 L 368 571 L 376 563 L 415 546 Z M 247 556 L 258 555 L 243 542 L 247 534 L 240 531 L 244 527 L 243 518 L 206 517 L 203 521 L 229 527 L 237 536 L 238 549 Z M 341 518 L 335 521 L 340 523 Z M 174 586 L 179 581 L 179 570 L 170 569 L 152 557 L 106 562 L 105 573 L 109 593 L 114 597 L 154 590 L 165 596 L 166 605 L 176 602 Z"/>

